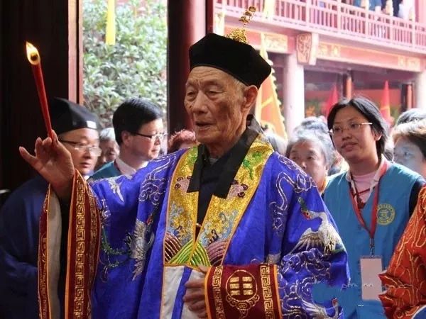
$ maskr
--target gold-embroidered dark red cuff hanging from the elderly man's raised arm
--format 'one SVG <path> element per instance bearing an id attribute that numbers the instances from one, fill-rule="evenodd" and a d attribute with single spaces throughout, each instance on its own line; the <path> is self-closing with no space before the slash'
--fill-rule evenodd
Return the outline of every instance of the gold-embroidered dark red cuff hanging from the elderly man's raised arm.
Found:
<path id="1" fill-rule="evenodd" d="M 50 186 L 40 216 L 38 245 L 38 299 L 40 319 L 59 318 L 58 269 L 60 210 L 54 206 Z M 100 219 L 87 182 L 76 171 L 72 183 L 67 240 L 65 318 L 90 318 L 90 295 L 96 274 Z M 56 281 L 56 282 L 55 282 Z"/>

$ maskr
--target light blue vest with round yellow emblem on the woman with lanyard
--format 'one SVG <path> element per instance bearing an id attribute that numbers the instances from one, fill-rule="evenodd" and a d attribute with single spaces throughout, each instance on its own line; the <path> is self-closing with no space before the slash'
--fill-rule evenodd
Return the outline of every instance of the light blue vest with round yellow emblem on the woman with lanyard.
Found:
<path id="1" fill-rule="evenodd" d="M 420 177 L 415 172 L 398 164 L 391 164 L 380 181 L 377 208 L 377 228 L 374 236 L 374 254 L 382 257 L 383 269 L 388 267 L 393 250 L 410 218 L 410 194 L 415 181 Z M 366 225 L 371 229 L 373 190 L 362 210 Z M 356 218 L 349 195 L 346 172 L 329 181 L 324 191 L 324 202 L 337 224 L 339 234 L 349 255 L 351 284 L 339 293 L 339 304 L 345 318 L 386 318 L 380 301 L 363 301 L 361 298 L 361 271 L 359 259 L 370 254 L 370 237 Z"/>

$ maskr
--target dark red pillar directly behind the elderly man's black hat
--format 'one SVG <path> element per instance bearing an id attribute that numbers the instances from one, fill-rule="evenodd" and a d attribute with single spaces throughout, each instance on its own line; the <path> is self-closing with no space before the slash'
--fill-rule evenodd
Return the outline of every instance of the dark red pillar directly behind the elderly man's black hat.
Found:
<path id="1" fill-rule="evenodd" d="M 211 6 L 209 10 L 207 7 Z M 183 100 L 190 72 L 188 50 L 213 21 L 213 1 L 168 0 L 168 129 L 192 128 Z M 207 13 L 212 17 L 207 18 Z"/>

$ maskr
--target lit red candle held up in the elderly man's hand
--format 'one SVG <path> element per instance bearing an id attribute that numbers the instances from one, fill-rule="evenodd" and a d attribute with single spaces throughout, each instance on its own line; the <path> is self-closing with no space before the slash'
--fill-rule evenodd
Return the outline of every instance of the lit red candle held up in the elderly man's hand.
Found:
<path id="1" fill-rule="evenodd" d="M 31 63 L 31 68 L 33 69 L 35 86 L 37 86 L 38 99 L 40 100 L 40 107 L 43 113 L 46 130 L 50 138 L 52 138 L 52 124 L 50 123 L 48 99 L 44 86 L 43 71 L 41 70 L 40 55 L 38 54 L 37 48 L 29 42 L 26 43 L 26 51 L 28 61 Z"/>

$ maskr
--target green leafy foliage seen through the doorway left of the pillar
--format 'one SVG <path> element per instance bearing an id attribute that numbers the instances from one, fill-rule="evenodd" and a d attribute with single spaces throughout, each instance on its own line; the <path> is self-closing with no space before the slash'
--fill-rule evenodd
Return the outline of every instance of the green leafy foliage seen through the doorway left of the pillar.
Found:
<path id="1" fill-rule="evenodd" d="M 125 99 L 143 97 L 166 107 L 166 8 L 162 1 L 116 6 L 116 45 L 105 44 L 107 0 L 83 1 L 84 104 L 111 125 Z"/>

